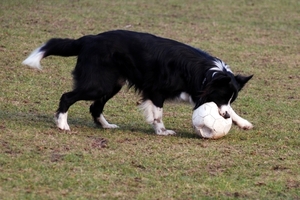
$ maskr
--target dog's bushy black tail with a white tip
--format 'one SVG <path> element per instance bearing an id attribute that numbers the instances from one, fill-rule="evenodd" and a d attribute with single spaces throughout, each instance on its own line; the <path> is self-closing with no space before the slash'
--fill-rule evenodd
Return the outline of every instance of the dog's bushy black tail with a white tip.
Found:
<path id="1" fill-rule="evenodd" d="M 35 49 L 23 62 L 36 69 L 42 69 L 40 61 L 47 56 L 77 56 L 81 50 L 80 40 L 74 39 L 50 39 L 46 44 Z"/>

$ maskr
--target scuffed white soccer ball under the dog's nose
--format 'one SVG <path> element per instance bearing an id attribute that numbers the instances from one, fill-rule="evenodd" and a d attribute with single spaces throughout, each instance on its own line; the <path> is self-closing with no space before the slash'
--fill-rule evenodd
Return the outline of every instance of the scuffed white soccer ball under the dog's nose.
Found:
<path id="1" fill-rule="evenodd" d="M 222 117 L 214 102 L 205 103 L 194 110 L 192 121 L 197 135 L 212 139 L 225 136 L 232 125 L 231 117 Z"/>

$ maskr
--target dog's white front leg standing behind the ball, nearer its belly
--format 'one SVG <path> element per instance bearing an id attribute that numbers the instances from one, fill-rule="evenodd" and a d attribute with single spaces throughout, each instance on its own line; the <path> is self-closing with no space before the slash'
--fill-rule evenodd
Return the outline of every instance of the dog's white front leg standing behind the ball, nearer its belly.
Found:
<path id="1" fill-rule="evenodd" d="M 151 124 L 157 135 L 175 135 L 175 131 L 167 130 L 162 121 L 163 108 L 156 107 L 151 100 L 146 100 L 141 104 L 146 121 Z"/>

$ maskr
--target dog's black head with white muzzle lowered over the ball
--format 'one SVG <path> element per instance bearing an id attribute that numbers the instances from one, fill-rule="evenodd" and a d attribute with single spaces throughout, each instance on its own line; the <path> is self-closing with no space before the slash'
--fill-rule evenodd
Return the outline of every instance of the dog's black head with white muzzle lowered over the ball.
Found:
<path id="1" fill-rule="evenodd" d="M 204 86 L 196 107 L 207 102 L 214 102 L 224 118 L 230 117 L 230 104 L 237 98 L 239 91 L 252 78 L 251 76 L 234 76 L 228 72 L 217 72 Z"/>

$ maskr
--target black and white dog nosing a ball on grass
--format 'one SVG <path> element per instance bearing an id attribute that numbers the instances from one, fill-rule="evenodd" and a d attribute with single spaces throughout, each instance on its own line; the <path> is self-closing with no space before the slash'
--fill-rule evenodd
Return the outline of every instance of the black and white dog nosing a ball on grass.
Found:
<path id="1" fill-rule="evenodd" d="M 116 30 L 77 40 L 53 38 L 23 64 L 41 69 L 41 59 L 50 55 L 77 56 L 74 89 L 61 96 L 55 115 L 62 130 L 70 130 L 68 109 L 79 100 L 94 101 L 90 112 L 96 124 L 117 128 L 102 112 L 105 103 L 126 83 L 142 95 L 146 121 L 158 135 L 175 134 L 165 128 L 162 115 L 165 100 L 178 97 L 190 101 L 194 109 L 213 101 L 223 117 L 232 117 L 242 129 L 253 127 L 230 106 L 252 76 L 235 76 L 220 59 L 186 44 L 148 33 Z"/>

